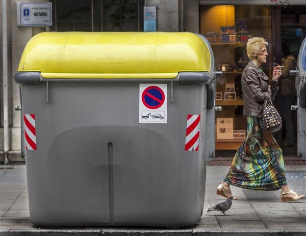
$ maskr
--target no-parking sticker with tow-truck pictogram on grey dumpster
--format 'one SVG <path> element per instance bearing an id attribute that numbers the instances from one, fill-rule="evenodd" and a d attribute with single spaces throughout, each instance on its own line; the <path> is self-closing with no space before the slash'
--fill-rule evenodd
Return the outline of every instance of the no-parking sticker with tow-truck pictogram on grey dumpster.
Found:
<path id="1" fill-rule="evenodd" d="M 139 85 L 139 123 L 167 123 L 167 84 Z"/>

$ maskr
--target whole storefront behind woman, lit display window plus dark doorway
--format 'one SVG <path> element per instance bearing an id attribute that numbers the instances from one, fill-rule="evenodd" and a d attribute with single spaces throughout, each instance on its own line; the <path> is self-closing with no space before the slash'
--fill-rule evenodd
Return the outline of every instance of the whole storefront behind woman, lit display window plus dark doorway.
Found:
<path id="1" fill-rule="evenodd" d="M 305 6 L 200 5 L 200 33 L 211 43 L 217 70 L 223 71 L 223 76 L 217 78 L 216 89 L 216 106 L 222 106 L 222 112 L 216 113 L 216 150 L 234 151 L 246 137 L 247 120 L 242 115 L 241 75 L 249 61 L 247 40 L 250 37 L 263 37 L 269 43 L 268 60 L 261 68 L 271 80 L 275 63 L 283 63 L 284 43 L 293 57 L 297 57 L 306 36 L 306 13 L 303 12 L 306 12 Z M 294 77 L 288 78 L 294 80 Z M 285 96 L 281 89 L 282 79 L 275 101 L 280 114 Z M 294 103 L 296 99 L 293 97 L 291 105 Z M 292 120 L 287 121 L 287 124 L 285 120 L 282 131 L 276 133 L 275 137 L 280 146 L 285 147 L 284 154 L 296 153 L 296 112 L 284 112 L 291 114 Z M 294 133 L 289 146 L 286 140 L 290 134 L 286 127 L 293 129 Z"/>

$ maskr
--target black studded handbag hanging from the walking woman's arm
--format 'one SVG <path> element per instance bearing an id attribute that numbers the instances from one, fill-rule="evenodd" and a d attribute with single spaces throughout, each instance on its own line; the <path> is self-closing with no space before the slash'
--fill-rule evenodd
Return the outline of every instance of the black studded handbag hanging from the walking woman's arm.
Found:
<path id="1" fill-rule="evenodd" d="M 281 129 L 281 117 L 268 94 L 263 102 L 262 111 L 263 129 L 266 132 L 277 132 Z"/>

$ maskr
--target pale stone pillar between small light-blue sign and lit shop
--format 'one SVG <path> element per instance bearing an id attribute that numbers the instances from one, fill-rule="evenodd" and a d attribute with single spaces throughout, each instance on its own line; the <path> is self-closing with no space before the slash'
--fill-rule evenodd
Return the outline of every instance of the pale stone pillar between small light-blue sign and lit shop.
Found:
<path id="1" fill-rule="evenodd" d="M 157 31 L 179 31 L 179 0 L 145 0 L 145 6 L 157 7 Z"/>

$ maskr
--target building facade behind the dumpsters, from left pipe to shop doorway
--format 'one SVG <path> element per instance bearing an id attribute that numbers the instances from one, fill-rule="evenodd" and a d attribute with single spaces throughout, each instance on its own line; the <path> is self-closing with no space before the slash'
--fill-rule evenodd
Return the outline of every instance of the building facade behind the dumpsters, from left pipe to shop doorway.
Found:
<path id="1" fill-rule="evenodd" d="M 0 161 L 4 158 L 23 160 L 21 113 L 15 110 L 15 106 L 21 104 L 20 94 L 13 75 L 26 43 L 39 32 L 143 31 L 144 6 L 156 6 L 157 31 L 191 31 L 205 35 L 211 41 L 217 69 L 225 72 L 217 81 L 221 97 L 216 104 L 224 108 L 217 118 L 227 118 L 231 131 L 221 134 L 216 130 L 216 148 L 220 150 L 237 148 L 246 131 L 246 121 L 241 115 L 243 94 L 239 90 L 239 76 L 246 61 L 245 40 L 249 36 L 262 36 L 270 43 L 269 62 L 264 69 L 271 75 L 273 63 L 281 62 L 281 40 L 287 41 L 291 51 L 296 53 L 306 36 L 304 0 L 52 0 L 53 24 L 50 27 L 17 26 L 17 2 L 21 1 L 0 0 L 1 45 L 4 42 L 0 51 Z M 3 18 L 4 12 L 7 20 Z M 7 84 L 3 83 L 5 76 Z M 216 120 L 217 128 L 221 119 Z M 278 134 L 279 142 L 282 136 Z"/>

